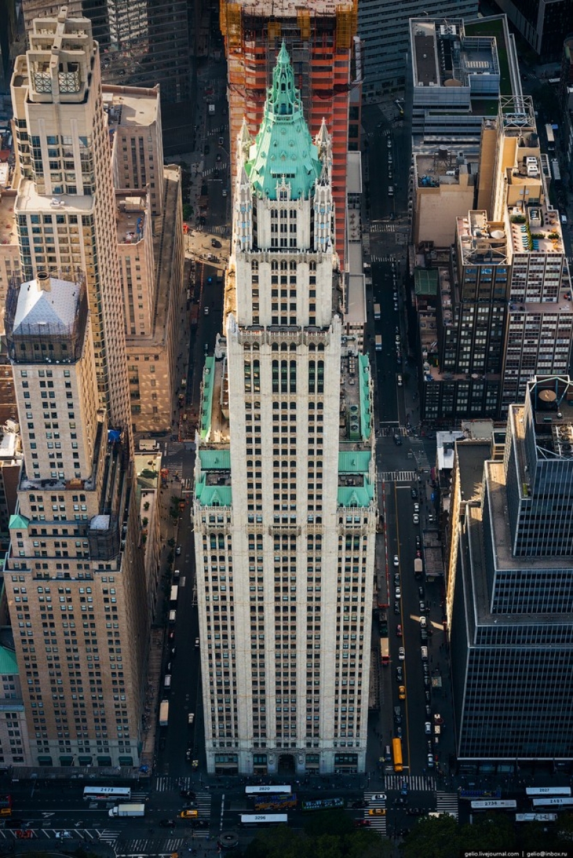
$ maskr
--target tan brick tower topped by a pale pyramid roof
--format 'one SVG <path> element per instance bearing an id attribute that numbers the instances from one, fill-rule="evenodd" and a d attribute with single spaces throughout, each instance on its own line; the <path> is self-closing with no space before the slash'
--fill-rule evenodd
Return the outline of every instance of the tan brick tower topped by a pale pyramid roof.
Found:
<path id="1" fill-rule="evenodd" d="M 24 467 L 4 586 L 33 765 L 134 766 L 147 649 L 129 444 L 99 407 L 85 284 L 14 283 Z"/>

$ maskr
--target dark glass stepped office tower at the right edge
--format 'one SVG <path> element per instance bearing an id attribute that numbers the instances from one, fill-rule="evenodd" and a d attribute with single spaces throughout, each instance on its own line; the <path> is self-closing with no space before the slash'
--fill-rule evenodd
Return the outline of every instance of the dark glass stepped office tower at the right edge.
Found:
<path id="1" fill-rule="evenodd" d="M 503 461 L 484 467 L 457 444 L 448 614 L 462 764 L 573 756 L 571 402 L 569 377 L 533 378 L 510 406 Z"/>

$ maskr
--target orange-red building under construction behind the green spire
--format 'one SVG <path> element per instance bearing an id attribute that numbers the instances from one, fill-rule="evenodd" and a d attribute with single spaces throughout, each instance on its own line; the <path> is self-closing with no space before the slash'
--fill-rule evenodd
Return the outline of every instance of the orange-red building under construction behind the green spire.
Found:
<path id="1" fill-rule="evenodd" d="M 293 0 L 230 3 L 220 0 L 220 27 L 225 38 L 231 163 L 237 136 L 246 118 L 251 136 L 262 119 L 267 87 L 284 40 L 314 137 L 323 118 L 332 134 L 335 246 L 345 258 L 345 210 L 349 127 L 358 145 L 360 51 L 356 36 L 358 0 Z M 354 115 L 355 114 L 355 115 Z M 353 136 L 351 132 L 351 136 Z"/>

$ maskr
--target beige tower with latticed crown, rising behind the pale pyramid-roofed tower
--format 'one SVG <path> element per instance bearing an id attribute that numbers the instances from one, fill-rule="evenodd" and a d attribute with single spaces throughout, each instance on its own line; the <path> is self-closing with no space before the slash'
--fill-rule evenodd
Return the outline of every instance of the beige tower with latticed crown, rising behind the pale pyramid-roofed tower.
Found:
<path id="1" fill-rule="evenodd" d="M 130 441 L 130 398 L 110 142 L 89 21 L 33 21 L 12 77 L 22 279 L 85 273 L 100 405 Z M 97 190 L 97 192 L 96 192 Z"/>

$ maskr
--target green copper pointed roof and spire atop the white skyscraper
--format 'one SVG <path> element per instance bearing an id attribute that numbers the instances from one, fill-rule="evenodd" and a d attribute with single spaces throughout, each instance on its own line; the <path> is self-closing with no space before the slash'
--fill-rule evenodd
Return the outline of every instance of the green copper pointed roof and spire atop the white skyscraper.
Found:
<path id="1" fill-rule="evenodd" d="M 293 67 L 283 42 L 267 90 L 264 114 L 245 170 L 253 191 L 277 198 L 277 183 L 290 187 L 290 198 L 308 197 L 323 165 L 311 140 Z"/>

